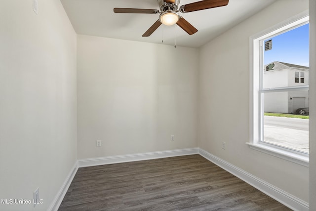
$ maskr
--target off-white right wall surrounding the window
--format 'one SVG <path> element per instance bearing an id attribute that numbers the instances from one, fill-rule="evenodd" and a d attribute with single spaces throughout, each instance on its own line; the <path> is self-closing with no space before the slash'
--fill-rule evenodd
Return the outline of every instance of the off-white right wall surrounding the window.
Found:
<path id="1" fill-rule="evenodd" d="M 307 167 L 252 150 L 245 142 L 249 142 L 249 37 L 307 9 L 308 0 L 278 0 L 201 47 L 198 108 L 201 149 L 306 202 Z M 221 149 L 222 141 L 226 150 Z"/>

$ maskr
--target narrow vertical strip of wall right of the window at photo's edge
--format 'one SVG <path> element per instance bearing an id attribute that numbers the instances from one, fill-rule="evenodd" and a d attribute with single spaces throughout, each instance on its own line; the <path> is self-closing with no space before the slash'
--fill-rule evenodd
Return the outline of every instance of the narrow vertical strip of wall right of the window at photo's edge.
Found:
<path id="1" fill-rule="evenodd" d="M 310 0 L 310 128 L 316 128 L 316 1 Z M 310 129 L 310 211 L 316 210 L 316 130 Z"/>

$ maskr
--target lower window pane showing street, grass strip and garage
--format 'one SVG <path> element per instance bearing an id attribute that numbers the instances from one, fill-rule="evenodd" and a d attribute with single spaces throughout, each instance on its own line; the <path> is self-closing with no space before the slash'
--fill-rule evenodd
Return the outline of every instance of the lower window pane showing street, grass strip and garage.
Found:
<path id="1" fill-rule="evenodd" d="M 262 141 L 309 152 L 308 90 L 264 93 L 263 101 Z"/>

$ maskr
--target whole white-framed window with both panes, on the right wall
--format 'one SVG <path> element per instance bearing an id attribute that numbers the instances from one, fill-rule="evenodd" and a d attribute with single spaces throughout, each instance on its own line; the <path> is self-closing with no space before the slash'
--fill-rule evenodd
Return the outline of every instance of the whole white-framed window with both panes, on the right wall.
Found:
<path id="1" fill-rule="evenodd" d="M 304 166 L 309 162 L 309 120 L 291 115 L 309 107 L 308 20 L 307 14 L 300 14 L 250 37 L 247 143 L 252 149 Z"/>

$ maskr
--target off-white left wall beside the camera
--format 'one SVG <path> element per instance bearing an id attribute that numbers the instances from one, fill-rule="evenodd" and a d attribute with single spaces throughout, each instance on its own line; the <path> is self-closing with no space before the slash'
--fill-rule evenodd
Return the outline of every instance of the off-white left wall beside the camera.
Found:
<path id="1" fill-rule="evenodd" d="M 77 161 L 76 33 L 59 0 L 0 6 L 0 199 L 44 211 Z"/>

